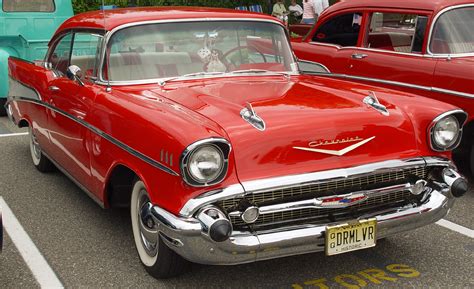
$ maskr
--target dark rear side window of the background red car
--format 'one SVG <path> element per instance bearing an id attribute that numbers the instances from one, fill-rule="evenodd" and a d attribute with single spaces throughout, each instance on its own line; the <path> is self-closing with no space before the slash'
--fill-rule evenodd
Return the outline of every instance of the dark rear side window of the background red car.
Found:
<path id="1" fill-rule="evenodd" d="M 361 22 L 362 13 L 336 16 L 319 27 L 314 34 L 313 41 L 340 46 L 356 46 Z"/>

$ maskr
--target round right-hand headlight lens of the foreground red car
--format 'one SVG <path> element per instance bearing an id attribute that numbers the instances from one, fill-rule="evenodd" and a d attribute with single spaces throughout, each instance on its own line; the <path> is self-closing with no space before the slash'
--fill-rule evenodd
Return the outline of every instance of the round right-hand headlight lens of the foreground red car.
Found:
<path id="1" fill-rule="evenodd" d="M 459 121 L 454 116 L 447 116 L 439 120 L 432 130 L 432 141 L 435 147 L 449 149 L 459 139 Z"/>

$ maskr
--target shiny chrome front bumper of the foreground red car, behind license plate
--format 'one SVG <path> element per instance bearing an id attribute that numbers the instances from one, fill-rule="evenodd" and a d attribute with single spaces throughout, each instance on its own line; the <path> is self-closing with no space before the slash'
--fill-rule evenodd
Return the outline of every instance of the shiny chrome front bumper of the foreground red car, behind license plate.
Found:
<path id="1" fill-rule="evenodd" d="M 376 218 L 377 239 L 413 230 L 443 218 L 454 197 L 448 188 L 432 188 L 430 196 L 419 206 L 394 208 L 361 216 Z M 324 251 L 326 226 L 288 226 L 258 232 L 233 231 L 224 242 L 214 242 L 203 225 L 193 217 L 177 217 L 159 207 L 152 209 L 162 239 L 185 259 L 201 264 L 233 265 L 284 256 Z"/>

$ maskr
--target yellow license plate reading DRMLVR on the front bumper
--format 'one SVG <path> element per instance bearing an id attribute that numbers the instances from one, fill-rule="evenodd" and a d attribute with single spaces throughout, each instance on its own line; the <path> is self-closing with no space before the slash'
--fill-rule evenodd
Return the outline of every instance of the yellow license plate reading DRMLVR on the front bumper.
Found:
<path id="1" fill-rule="evenodd" d="M 374 247 L 376 228 L 376 219 L 326 227 L 326 255 Z"/>

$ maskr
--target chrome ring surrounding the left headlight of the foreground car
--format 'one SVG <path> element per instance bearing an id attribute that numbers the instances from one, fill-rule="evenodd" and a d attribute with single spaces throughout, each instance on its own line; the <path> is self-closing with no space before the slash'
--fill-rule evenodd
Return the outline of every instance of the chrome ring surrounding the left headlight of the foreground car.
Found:
<path id="1" fill-rule="evenodd" d="M 213 179 L 206 181 L 200 180 L 190 170 L 190 160 L 194 154 L 198 153 L 203 148 L 216 149 L 222 157 L 222 163 L 219 168 L 219 173 Z M 227 175 L 229 168 L 229 155 L 231 151 L 230 143 L 223 138 L 210 138 L 197 141 L 189 145 L 181 155 L 181 175 L 183 180 L 193 187 L 207 187 L 222 182 Z"/>

